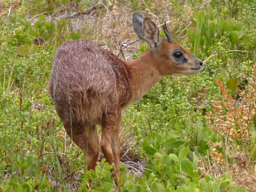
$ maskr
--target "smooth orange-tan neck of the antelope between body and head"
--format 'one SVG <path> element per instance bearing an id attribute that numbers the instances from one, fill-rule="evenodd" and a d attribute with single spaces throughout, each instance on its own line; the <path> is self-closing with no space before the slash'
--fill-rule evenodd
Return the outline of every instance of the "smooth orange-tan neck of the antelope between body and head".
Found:
<path id="1" fill-rule="evenodd" d="M 130 71 L 131 102 L 142 98 L 163 78 L 163 75 L 156 68 L 157 62 L 150 49 L 138 59 L 126 62 Z"/>

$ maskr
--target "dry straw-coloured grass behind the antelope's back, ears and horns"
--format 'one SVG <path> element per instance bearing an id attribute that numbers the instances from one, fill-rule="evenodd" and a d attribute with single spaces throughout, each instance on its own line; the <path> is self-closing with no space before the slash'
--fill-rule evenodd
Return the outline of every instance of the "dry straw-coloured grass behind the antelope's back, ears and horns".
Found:
<path id="1" fill-rule="evenodd" d="M 206 1 L 201 5 L 193 7 L 191 3 L 185 3 L 181 8 L 184 9 L 182 17 L 179 10 L 175 10 L 175 6 L 170 1 L 145 1 L 138 2 L 136 8 L 144 17 L 150 17 L 158 25 L 165 20 L 168 22 L 168 28 L 179 41 L 187 38 L 185 31 L 191 26 L 192 10 L 209 4 Z M 91 2 L 93 3 L 93 2 Z M 61 10 L 56 10 L 48 16 L 48 20 L 59 20 L 61 18 L 68 19 L 68 32 L 80 31 L 82 39 L 92 40 L 94 43 L 114 52 L 116 55 L 126 61 L 132 60 L 132 53 L 138 52 L 142 41 L 137 41 L 137 35 L 133 31 L 132 15 L 134 9 L 131 2 L 127 1 L 112 1 L 106 3 L 105 1 L 94 3 L 93 6 L 85 8 L 84 10 L 72 11 L 72 7 L 79 5 L 66 5 Z M 31 22 L 35 23 L 40 14 L 31 18 Z M 64 42 L 63 42 L 64 43 Z M 128 46 L 127 46 L 128 45 Z"/>

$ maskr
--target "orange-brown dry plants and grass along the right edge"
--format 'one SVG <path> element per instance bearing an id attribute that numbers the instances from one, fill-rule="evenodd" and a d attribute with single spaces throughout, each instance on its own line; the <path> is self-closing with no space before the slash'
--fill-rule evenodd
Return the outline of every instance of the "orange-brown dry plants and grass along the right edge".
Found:
<path id="1" fill-rule="evenodd" d="M 222 98 L 212 101 L 213 111 L 208 113 L 208 125 L 213 132 L 221 135 L 222 141 L 209 142 L 211 158 L 201 162 L 205 175 L 210 173 L 220 177 L 231 173 L 239 187 L 250 191 L 256 191 L 255 145 L 251 143 L 250 131 L 256 111 L 255 82 L 256 65 L 252 68 L 247 89 L 240 91 L 240 102 L 237 102 L 228 94 L 223 82 L 217 81 Z"/>

